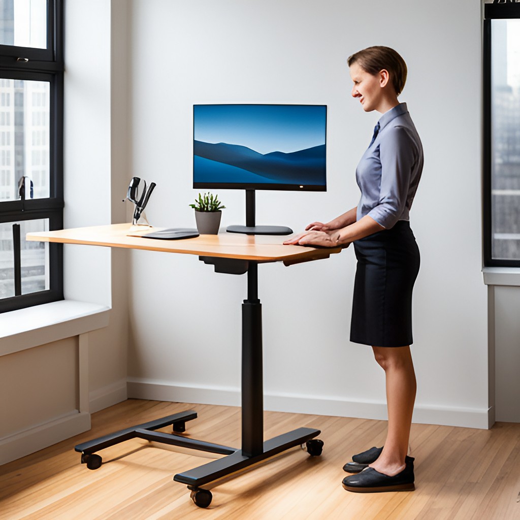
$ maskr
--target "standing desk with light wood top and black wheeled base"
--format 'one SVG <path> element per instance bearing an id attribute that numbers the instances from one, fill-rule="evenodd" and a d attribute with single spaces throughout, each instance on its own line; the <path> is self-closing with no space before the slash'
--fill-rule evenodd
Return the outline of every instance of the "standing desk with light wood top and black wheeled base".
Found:
<path id="1" fill-rule="evenodd" d="M 140 227 L 131 224 L 113 224 L 34 232 L 27 235 L 27 240 L 198 255 L 205 264 L 213 265 L 216 272 L 233 275 L 247 273 L 248 297 L 242 304 L 241 449 L 178 435 L 185 431 L 187 421 L 197 418 L 197 413 L 193 410 L 125 428 L 75 447 L 75 450 L 82 454 L 81 462 L 92 470 L 100 467 L 102 462 L 96 451 L 135 437 L 222 454 L 225 457 L 174 476 L 177 482 L 188 485 L 194 503 L 200 507 L 207 507 L 212 499 L 211 492 L 199 486 L 235 473 L 294 446 L 305 444 L 310 455 L 321 454 L 323 443 L 315 438 L 320 431 L 314 428 L 297 428 L 264 441 L 262 305 L 258 299 L 258 264 L 283 262 L 285 266 L 289 266 L 328 258 L 332 253 L 339 253 L 341 248 L 316 249 L 282 245 L 284 237 L 235 233 L 201 235 L 184 240 L 157 240 L 139 236 L 159 229 L 161 228 L 141 230 Z M 173 426 L 171 434 L 154 431 L 169 425 Z"/>

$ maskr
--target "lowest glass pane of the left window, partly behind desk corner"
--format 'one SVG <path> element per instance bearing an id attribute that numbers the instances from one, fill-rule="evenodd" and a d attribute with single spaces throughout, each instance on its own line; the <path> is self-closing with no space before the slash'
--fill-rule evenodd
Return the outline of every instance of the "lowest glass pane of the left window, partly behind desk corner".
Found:
<path id="1" fill-rule="evenodd" d="M 49 289 L 49 248 L 46 242 L 28 242 L 27 233 L 48 231 L 49 219 L 0 224 L 0 298 L 15 296 L 15 252 L 12 225 L 20 224 L 22 294 Z"/>

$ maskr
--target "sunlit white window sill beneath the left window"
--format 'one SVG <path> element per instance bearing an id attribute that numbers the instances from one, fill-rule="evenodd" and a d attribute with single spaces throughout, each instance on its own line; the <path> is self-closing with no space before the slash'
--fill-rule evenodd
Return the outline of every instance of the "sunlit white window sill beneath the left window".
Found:
<path id="1" fill-rule="evenodd" d="M 0 314 L 0 356 L 108 325 L 110 307 L 62 300 Z"/>

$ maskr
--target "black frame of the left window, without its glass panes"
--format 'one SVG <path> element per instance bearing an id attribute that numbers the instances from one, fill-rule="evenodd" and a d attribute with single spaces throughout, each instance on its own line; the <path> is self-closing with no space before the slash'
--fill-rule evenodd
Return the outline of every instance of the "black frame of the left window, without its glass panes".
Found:
<path id="1" fill-rule="evenodd" d="M 0 223 L 48 219 L 63 229 L 63 0 L 47 0 L 47 48 L 0 45 L 0 77 L 50 84 L 49 198 L 0 202 Z M 49 289 L 0 300 L 0 313 L 63 300 L 63 246 L 49 243 Z"/>

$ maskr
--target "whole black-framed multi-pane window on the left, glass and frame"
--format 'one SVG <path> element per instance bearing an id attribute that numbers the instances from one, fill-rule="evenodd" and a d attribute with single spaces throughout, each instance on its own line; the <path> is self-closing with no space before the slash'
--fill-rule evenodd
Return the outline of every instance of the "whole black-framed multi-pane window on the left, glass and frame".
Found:
<path id="1" fill-rule="evenodd" d="M 0 312 L 63 299 L 62 0 L 0 2 Z"/>

